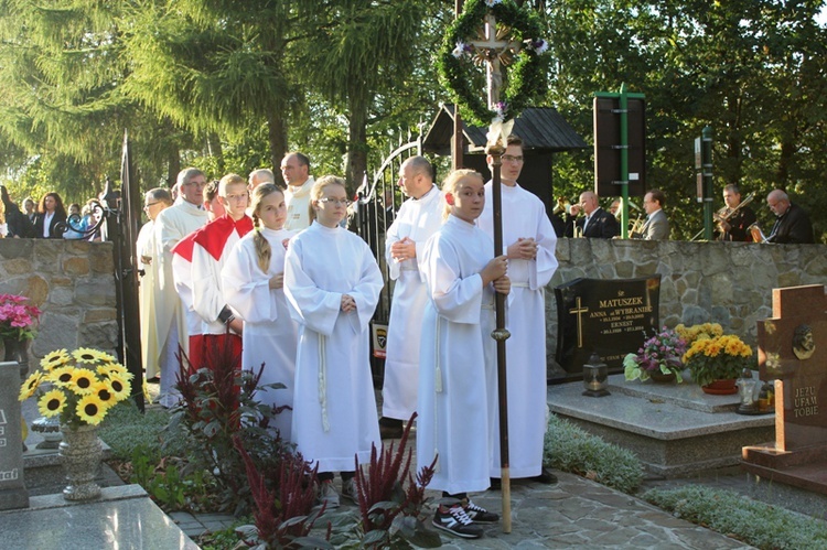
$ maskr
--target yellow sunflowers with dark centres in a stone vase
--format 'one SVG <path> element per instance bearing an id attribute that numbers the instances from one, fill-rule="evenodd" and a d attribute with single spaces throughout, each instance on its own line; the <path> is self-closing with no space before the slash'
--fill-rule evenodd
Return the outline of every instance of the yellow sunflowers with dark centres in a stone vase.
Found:
<path id="1" fill-rule="evenodd" d="M 69 481 L 64 497 L 94 498 L 100 494 L 95 477 L 103 454 L 97 427 L 131 395 L 132 374 L 111 355 L 83 347 L 52 352 L 40 365 L 42 370 L 23 382 L 20 400 L 36 393 L 41 414 L 61 419 L 60 455 Z"/>

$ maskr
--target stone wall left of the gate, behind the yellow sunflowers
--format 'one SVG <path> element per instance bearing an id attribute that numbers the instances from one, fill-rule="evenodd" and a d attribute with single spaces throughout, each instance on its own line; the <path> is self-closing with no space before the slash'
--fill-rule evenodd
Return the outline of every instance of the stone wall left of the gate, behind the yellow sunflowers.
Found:
<path id="1" fill-rule="evenodd" d="M 0 293 L 29 296 L 43 311 L 32 359 L 82 346 L 115 352 L 112 273 L 111 242 L 0 239 Z"/>

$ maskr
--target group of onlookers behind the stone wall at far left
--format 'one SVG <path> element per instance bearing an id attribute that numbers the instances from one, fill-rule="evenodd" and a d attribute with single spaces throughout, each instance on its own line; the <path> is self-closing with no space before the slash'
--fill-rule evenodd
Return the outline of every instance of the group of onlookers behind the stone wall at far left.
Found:
<path id="1" fill-rule="evenodd" d="M 93 230 L 99 219 L 94 198 L 83 208 L 77 203 L 71 204 L 68 212 L 55 192 L 46 193 L 39 203 L 25 197 L 22 211 L 4 185 L 0 185 L 0 235 L 4 238 L 100 240 L 100 233 Z"/>

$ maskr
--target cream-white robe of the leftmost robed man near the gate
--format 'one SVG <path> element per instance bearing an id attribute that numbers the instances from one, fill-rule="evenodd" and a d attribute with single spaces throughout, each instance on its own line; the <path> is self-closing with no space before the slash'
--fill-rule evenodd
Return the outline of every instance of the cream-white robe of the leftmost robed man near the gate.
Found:
<path id="1" fill-rule="evenodd" d="M 138 308 L 141 319 L 141 364 L 147 379 L 154 378 L 159 374 L 158 357 L 158 331 L 155 328 L 154 288 L 158 271 L 158 262 L 151 261 L 154 255 L 153 223 L 150 219 L 138 231 L 135 250 L 138 255 L 138 269 L 143 270 L 140 287 L 138 287 Z M 143 258 L 150 258 L 149 263 L 143 263 Z"/>

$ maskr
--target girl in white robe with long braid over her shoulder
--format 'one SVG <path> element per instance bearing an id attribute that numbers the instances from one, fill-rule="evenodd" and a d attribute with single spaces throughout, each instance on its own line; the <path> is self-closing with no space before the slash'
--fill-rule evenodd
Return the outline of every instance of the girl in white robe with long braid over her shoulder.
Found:
<path id="1" fill-rule="evenodd" d="M 253 222 L 256 228 L 245 235 L 222 269 L 224 298 L 244 321 L 241 368 L 258 373 L 260 385 L 283 384 L 286 388 L 266 388 L 261 402 L 282 408 L 275 427 L 290 441 L 296 373 L 298 328 L 284 298 L 284 255 L 296 231 L 284 229 L 284 194 L 271 183 L 253 191 Z"/>

